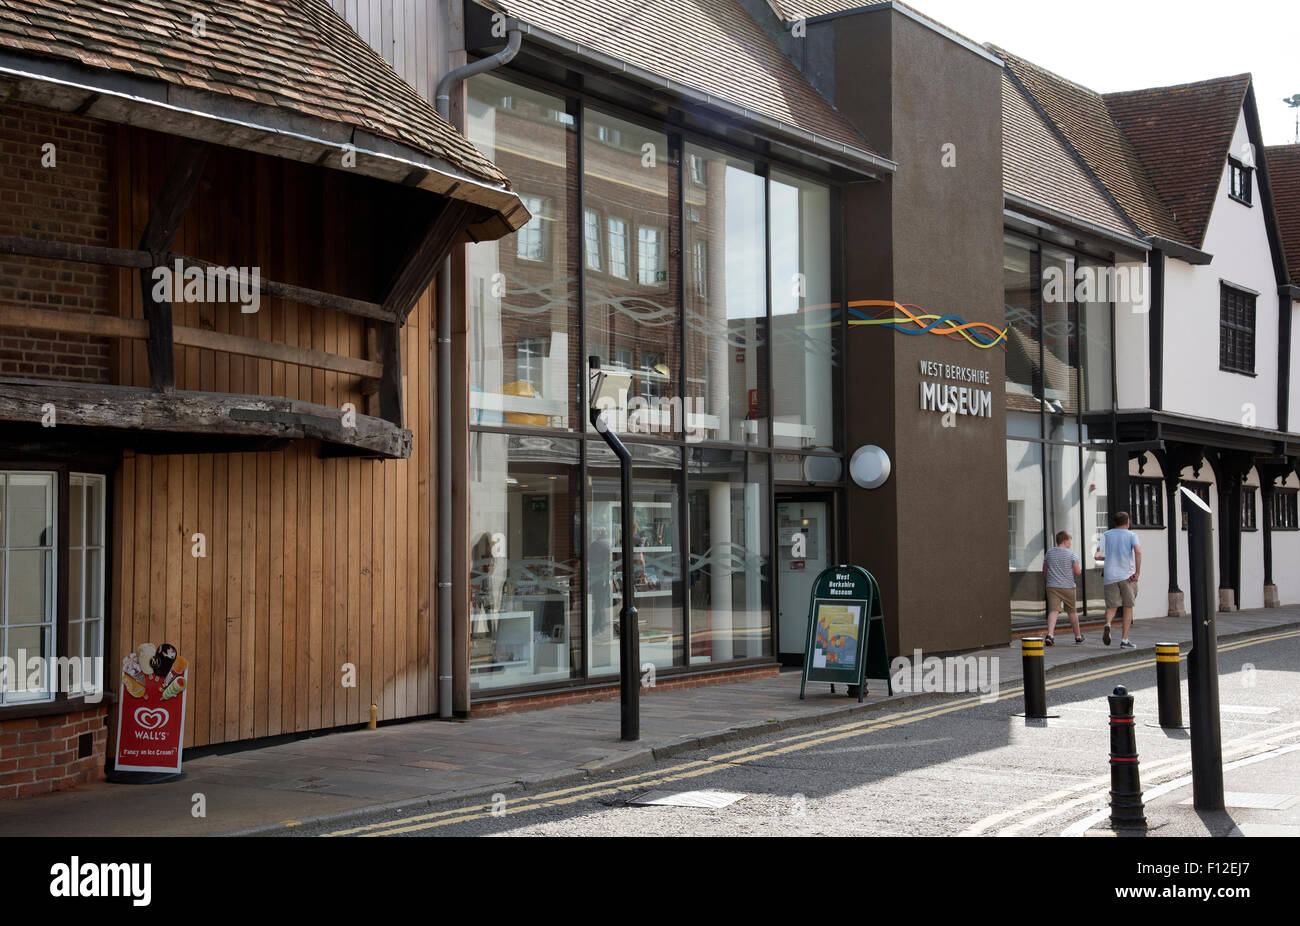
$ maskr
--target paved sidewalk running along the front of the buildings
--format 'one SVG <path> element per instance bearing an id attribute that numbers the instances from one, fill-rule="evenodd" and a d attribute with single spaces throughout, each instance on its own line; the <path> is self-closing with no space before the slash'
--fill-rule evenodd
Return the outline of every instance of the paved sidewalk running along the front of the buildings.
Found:
<path id="1" fill-rule="evenodd" d="M 1218 616 L 1219 637 L 1300 626 L 1300 609 Z M 1118 627 L 1117 627 L 1118 631 Z M 1049 671 L 1132 657 L 1069 626 L 1046 649 Z M 1134 627 L 1138 654 L 1156 642 L 1190 642 L 1190 618 L 1156 618 Z M 1020 644 L 980 650 L 1000 657 L 1000 683 L 1020 679 Z M 909 654 L 910 655 L 910 654 Z M 883 702 L 936 694 L 883 688 L 863 705 L 824 683 L 798 700 L 800 672 L 701 688 L 653 692 L 641 700 L 641 741 L 619 741 L 618 701 L 563 705 L 469 722 L 420 721 L 377 731 L 329 734 L 281 745 L 207 756 L 185 763 L 179 782 L 155 786 L 96 783 L 75 791 L 0 801 L 4 835 L 208 835 L 320 817 L 346 818 L 377 806 L 422 805 L 469 795 L 581 780 L 607 769 L 645 765 L 728 739 L 842 719 Z M 205 815 L 194 815 L 198 796 Z"/>

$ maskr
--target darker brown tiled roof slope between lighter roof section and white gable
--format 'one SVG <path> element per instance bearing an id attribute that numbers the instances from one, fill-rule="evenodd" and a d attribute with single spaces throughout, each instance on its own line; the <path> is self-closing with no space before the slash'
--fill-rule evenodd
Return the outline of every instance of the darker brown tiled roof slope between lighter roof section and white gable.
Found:
<path id="1" fill-rule="evenodd" d="M 996 46 L 985 47 L 1006 62 L 1015 81 L 1041 107 L 1138 228 L 1148 235 L 1199 245 L 1191 241 L 1161 200 L 1132 142 L 1119 129 L 1100 94 Z"/>

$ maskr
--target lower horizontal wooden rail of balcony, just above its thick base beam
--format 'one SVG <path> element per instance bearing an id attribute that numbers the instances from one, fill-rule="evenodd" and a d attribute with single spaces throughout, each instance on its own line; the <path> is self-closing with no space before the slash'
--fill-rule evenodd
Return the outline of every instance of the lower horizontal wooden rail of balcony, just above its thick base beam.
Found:
<path id="1" fill-rule="evenodd" d="M 0 306 L 0 328 L 32 328 L 42 332 L 66 332 L 69 334 L 90 334 L 107 338 L 133 338 L 144 341 L 150 326 L 143 319 L 120 319 L 114 315 L 88 315 L 84 312 L 61 312 L 51 308 L 25 308 Z M 264 360 L 292 363 L 299 367 L 312 367 L 333 373 L 360 376 L 373 381 L 384 375 L 384 364 L 377 360 L 360 360 L 338 354 L 326 354 L 307 347 L 282 345 L 274 341 L 246 338 L 239 334 L 209 332 L 203 328 L 176 325 L 173 339 L 182 347 L 218 350 L 240 356 L 256 356 Z"/>

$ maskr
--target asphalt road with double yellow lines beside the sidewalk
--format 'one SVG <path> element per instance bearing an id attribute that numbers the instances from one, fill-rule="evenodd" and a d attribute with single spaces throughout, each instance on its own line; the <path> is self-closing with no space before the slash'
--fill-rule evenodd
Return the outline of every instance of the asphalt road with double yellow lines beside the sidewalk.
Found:
<path id="1" fill-rule="evenodd" d="M 1183 717 L 1187 666 L 1183 671 Z M 1219 645 L 1225 762 L 1244 760 L 1271 792 L 1300 797 L 1300 631 Z M 511 792 L 436 810 L 302 826 L 286 836 L 736 836 L 736 835 L 1061 835 L 1088 827 L 1109 789 L 1106 694 L 1135 696 L 1143 786 L 1166 786 L 1170 835 L 1195 832 L 1174 804 L 1191 770 L 1186 731 L 1156 721 L 1154 653 L 1048 680 L 1049 721 L 1014 717 L 1019 685 L 996 701 L 931 694 L 883 705 L 852 722 L 776 732 L 662 763 L 537 792 Z M 1228 783 L 1231 788 L 1231 779 Z M 722 808 L 629 806 L 646 792 L 744 795 Z M 1262 812 L 1261 812 L 1262 813 Z M 1166 819 L 1167 817 L 1167 819 Z M 1096 825 L 1093 825 L 1096 826 Z M 1191 828 L 1188 828 L 1191 826 Z M 1199 825 L 1196 825 L 1199 826 Z M 1182 827 L 1182 828 L 1180 828 Z M 1202 830 L 1204 832 L 1204 830 Z M 1160 835 L 1158 827 L 1156 835 Z"/>

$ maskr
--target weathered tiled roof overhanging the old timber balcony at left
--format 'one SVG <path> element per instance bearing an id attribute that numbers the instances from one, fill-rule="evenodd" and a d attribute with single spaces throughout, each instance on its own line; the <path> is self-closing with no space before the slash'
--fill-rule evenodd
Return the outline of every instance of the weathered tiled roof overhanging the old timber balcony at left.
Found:
<path id="1" fill-rule="evenodd" d="M 354 126 L 508 187 L 326 0 L 0 0 L 0 48 Z"/>

